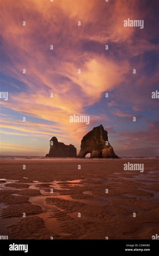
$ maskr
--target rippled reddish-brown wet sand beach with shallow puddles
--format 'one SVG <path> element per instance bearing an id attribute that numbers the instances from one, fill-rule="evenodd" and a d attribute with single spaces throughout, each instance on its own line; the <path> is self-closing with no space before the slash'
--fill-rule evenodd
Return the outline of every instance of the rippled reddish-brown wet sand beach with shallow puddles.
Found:
<path id="1" fill-rule="evenodd" d="M 124 171 L 127 162 L 144 163 L 144 172 Z M 12 159 L 0 165 L 0 235 L 9 239 L 152 239 L 159 233 L 158 159 Z"/>

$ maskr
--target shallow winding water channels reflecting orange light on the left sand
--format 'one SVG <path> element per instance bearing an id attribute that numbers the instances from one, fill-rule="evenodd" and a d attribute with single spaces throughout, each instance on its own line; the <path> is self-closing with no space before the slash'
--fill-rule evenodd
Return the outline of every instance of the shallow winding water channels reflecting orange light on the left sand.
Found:
<path id="1" fill-rule="evenodd" d="M 18 183 L 18 184 L 28 184 L 29 189 L 39 190 L 40 193 L 42 194 L 41 196 L 30 197 L 28 201 L 34 205 L 40 206 L 43 210 L 43 213 L 29 215 L 28 218 L 31 218 L 33 216 L 40 217 L 41 219 L 44 220 L 45 227 L 47 229 L 49 229 L 50 231 L 56 232 L 60 235 L 69 236 L 70 235 L 69 233 L 62 233 L 62 231 L 60 229 L 59 221 L 57 221 L 57 219 L 53 216 L 54 212 L 56 212 L 56 211 L 64 212 L 64 210 L 61 209 L 60 207 L 58 207 L 54 203 L 52 203 L 52 204 L 46 203 L 46 199 L 55 197 L 55 198 L 59 198 L 59 199 L 63 199 L 63 200 L 72 200 L 72 201 L 76 201 L 76 200 L 72 199 L 69 195 L 60 195 L 60 193 L 57 193 L 57 192 L 50 193 L 49 191 L 45 191 L 45 189 L 53 188 L 53 189 L 56 189 L 59 191 L 69 190 L 68 188 L 62 188 L 62 187 L 64 187 L 64 184 L 66 186 L 80 186 L 80 185 L 84 186 L 82 184 L 76 184 L 76 183 L 80 183 L 81 181 L 82 180 L 71 180 L 71 181 L 62 181 L 62 182 L 61 181 L 53 181 L 53 182 L 33 181 L 33 183 Z M 16 188 L 12 188 L 12 187 L 5 187 L 6 184 L 13 184 L 13 183 L 15 184 L 16 182 L 18 182 L 18 180 L 0 179 L 0 190 L 23 190 L 23 189 L 16 189 Z M 17 193 L 13 193 L 11 195 L 22 196 Z M 4 207 L 7 207 L 7 206 L 5 204 L 1 203 L 0 210 L 3 209 Z M 17 219 L 19 219 L 19 218 L 11 218 L 8 223 L 7 223 L 7 220 L 4 221 L 4 219 L 3 219 L 3 223 L 11 224 L 11 223 L 15 222 L 15 220 L 17 221 Z M 3 226 L 5 226 L 5 225 L 3 225 Z M 6 230 L 6 227 L 5 227 L 5 230 Z"/>

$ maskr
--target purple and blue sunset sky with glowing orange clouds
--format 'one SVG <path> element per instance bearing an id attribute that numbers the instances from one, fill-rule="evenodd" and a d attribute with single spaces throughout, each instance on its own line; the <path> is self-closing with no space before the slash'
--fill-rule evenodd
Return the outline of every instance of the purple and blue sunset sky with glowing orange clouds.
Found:
<path id="1" fill-rule="evenodd" d="M 1 0 L 0 9 L 1 155 L 45 156 L 53 136 L 78 153 L 102 124 L 119 157 L 159 156 L 158 1 Z M 74 114 L 90 124 L 70 123 Z"/>

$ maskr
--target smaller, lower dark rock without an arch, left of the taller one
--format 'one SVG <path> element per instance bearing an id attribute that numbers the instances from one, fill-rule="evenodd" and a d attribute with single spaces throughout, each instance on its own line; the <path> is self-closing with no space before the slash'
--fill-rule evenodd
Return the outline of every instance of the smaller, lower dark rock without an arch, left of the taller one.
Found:
<path id="1" fill-rule="evenodd" d="M 77 150 L 73 145 L 58 142 L 56 137 L 50 139 L 50 151 L 46 157 L 77 157 Z"/>

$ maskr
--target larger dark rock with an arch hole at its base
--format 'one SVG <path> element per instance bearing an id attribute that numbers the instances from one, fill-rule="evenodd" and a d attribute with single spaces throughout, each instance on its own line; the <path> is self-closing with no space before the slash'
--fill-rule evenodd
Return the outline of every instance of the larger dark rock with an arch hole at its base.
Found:
<path id="1" fill-rule="evenodd" d="M 91 153 L 90 158 L 119 158 L 109 142 L 106 146 L 106 141 L 108 141 L 108 133 L 103 126 L 94 127 L 81 140 L 81 150 L 77 157 L 85 158 L 88 153 Z"/>

